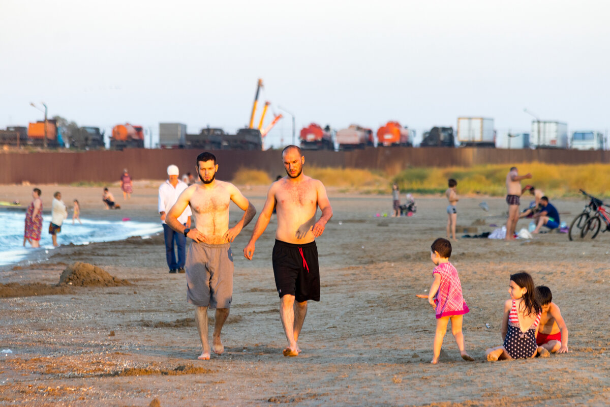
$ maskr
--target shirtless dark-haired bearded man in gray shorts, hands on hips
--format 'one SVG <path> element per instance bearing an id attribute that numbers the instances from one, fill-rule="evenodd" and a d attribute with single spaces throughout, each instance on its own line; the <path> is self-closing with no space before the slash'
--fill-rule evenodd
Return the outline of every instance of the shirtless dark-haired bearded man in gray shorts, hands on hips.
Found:
<path id="1" fill-rule="evenodd" d="M 229 316 L 233 295 L 233 255 L 231 242 L 254 218 L 256 209 L 235 187 L 218 181 L 218 164 L 212 153 L 197 156 L 197 173 L 201 185 L 193 184 L 184 190 L 171 207 L 165 222 L 176 232 L 192 240 L 186 262 L 187 301 L 196 306 L 195 320 L 201 339 L 198 359 L 210 359 L 207 333 L 207 308 L 216 308 L 212 350 L 217 355 L 224 351 L 220 331 Z M 244 211 L 237 225 L 229 229 L 229 203 L 233 201 Z M 188 229 L 178 221 L 184 209 L 190 206 L 195 218 L 195 229 Z"/>

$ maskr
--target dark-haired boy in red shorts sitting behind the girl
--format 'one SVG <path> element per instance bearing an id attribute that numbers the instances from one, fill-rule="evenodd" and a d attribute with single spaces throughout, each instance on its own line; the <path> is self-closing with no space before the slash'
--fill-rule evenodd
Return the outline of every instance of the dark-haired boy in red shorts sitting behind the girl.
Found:
<path id="1" fill-rule="evenodd" d="M 552 301 L 551 289 L 547 286 L 537 286 L 536 295 L 542 306 L 536 344 L 551 353 L 566 353 L 568 351 L 568 328 L 565 326 L 559 307 Z"/>

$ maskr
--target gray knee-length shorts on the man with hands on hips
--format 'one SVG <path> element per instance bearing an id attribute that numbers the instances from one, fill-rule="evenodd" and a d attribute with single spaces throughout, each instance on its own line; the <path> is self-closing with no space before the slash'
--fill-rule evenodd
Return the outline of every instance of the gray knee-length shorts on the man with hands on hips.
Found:
<path id="1" fill-rule="evenodd" d="M 231 243 L 191 242 L 185 270 L 189 303 L 199 307 L 230 308 L 233 298 Z"/>

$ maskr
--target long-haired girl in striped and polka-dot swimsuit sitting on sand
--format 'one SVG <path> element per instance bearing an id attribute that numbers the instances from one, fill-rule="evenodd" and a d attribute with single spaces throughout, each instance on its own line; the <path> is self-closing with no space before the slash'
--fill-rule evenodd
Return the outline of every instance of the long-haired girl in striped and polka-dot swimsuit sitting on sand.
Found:
<path id="1" fill-rule="evenodd" d="M 534 280 L 525 272 L 511 274 L 508 292 L 511 299 L 504 303 L 502 319 L 504 345 L 487 349 L 487 360 L 526 359 L 537 353 L 548 357 L 548 351 L 536 344 L 542 307 L 537 300 Z"/>

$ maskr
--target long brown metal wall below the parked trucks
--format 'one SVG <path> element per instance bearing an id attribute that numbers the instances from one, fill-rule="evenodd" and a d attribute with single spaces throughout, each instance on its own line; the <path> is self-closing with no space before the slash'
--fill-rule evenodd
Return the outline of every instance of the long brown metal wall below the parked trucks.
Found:
<path id="1" fill-rule="evenodd" d="M 81 153 L 0 153 L 0 184 L 70 184 L 73 182 L 114 182 L 123 168 L 134 180 L 164 179 L 166 168 L 176 164 L 181 174 L 195 173 L 195 149 L 125 149 L 123 151 L 84 151 Z M 279 150 L 213 151 L 218 159 L 218 178 L 232 179 L 240 167 L 264 170 L 274 178 L 284 175 Z M 306 165 L 353 167 L 397 173 L 407 167 L 448 167 L 451 165 L 589 164 L 610 162 L 610 151 L 564 149 L 495 148 L 366 148 L 356 151 L 304 151 Z"/>

